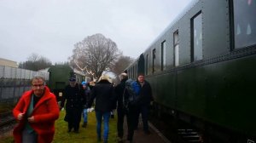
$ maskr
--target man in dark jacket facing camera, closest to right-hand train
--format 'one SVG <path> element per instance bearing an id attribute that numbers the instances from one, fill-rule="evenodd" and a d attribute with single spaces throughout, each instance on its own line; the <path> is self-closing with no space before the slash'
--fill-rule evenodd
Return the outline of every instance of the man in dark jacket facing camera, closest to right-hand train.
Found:
<path id="1" fill-rule="evenodd" d="M 148 107 L 150 106 L 150 103 L 154 100 L 152 95 L 152 89 L 150 84 L 144 79 L 143 74 L 138 74 L 137 84 L 139 85 L 139 96 L 141 97 L 139 101 L 139 109 L 143 117 L 143 131 L 145 134 L 150 134 L 150 131 L 148 129 Z M 137 113 L 135 129 L 137 128 L 138 117 L 139 112 Z"/>

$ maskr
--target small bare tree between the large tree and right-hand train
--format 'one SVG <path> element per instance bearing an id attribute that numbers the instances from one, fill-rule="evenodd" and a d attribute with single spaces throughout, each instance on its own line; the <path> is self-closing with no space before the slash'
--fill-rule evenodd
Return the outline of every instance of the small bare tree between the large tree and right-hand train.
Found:
<path id="1" fill-rule="evenodd" d="M 134 59 L 129 56 L 121 55 L 113 65 L 113 72 L 117 75 L 125 71 L 125 68 L 130 66 Z"/>

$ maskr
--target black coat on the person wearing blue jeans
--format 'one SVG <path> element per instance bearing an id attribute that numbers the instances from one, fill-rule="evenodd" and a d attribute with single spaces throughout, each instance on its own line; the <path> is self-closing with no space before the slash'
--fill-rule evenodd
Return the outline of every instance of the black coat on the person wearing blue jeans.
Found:
<path id="1" fill-rule="evenodd" d="M 96 83 L 90 92 L 88 107 L 91 107 L 94 99 L 96 99 L 96 112 L 111 112 L 114 109 L 116 99 L 113 85 L 105 80 Z"/>

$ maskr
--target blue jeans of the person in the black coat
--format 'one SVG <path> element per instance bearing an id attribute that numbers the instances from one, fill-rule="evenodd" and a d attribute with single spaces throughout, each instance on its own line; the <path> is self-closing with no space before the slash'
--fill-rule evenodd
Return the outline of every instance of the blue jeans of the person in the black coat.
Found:
<path id="1" fill-rule="evenodd" d="M 102 134 L 102 117 L 103 117 L 103 123 L 104 123 L 104 130 L 103 130 L 103 140 L 108 140 L 108 123 L 109 123 L 109 117 L 110 112 L 96 112 L 96 132 L 98 139 L 101 139 Z"/>

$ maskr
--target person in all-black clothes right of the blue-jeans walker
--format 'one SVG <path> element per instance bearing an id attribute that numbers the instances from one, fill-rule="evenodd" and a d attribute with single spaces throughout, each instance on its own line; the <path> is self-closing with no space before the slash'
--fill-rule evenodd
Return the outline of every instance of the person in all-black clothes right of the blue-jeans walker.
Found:
<path id="1" fill-rule="evenodd" d="M 117 130 L 118 130 L 118 141 L 123 140 L 124 136 L 124 118 L 125 118 L 125 110 L 124 110 L 124 103 L 123 103 L 123 95 L 125 91 L 125 82 L 127 81 L 128 77 L 126 73 L 122 73 L 120 75 L 120 83 L 115 87 L 115 93 L 117 94 L 117 115 L 118 115 L 118 123 L 117 123 Z"/>

